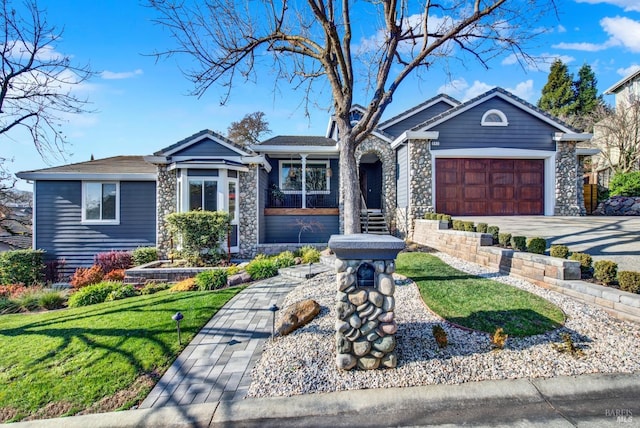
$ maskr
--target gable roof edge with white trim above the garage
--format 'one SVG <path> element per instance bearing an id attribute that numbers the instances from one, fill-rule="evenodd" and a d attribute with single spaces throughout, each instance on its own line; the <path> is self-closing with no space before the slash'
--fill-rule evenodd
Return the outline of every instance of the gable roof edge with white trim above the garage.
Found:
<path id="1" fill-rule="evenodd" d="M 545 112 L 544 110 L 534 106 L 533 104 L 523 100 L 522 98 L 517 97 L 516 95 L 512 94 L 511 92 L 502 89 L 500 87 L 495 87 L 487 92 L 485 92 L 484 94 L 481 94 L 475 98 L 472 98 L 456 107 L 453 107 L 450 110 L 447 110 L 437 116 L 432 117 L 431 119 L 413 127 L 411 129 L 411 131 L 427 131 L 431 128 L 433 128 L 434 126 L 445 122 L 477 105 L 482 104 L 483 102 L 491 99 L 491 98 L 501 98 L 511 104 L 513 104 L 514 106 L 521 108 L 522 110 L 527 111 L 528 113 L 530 113 L 531 115 L 537 117 L 538 119 L 552 125 L 555 126 L 556 128 L 558 128 L 559 130 L 561 130 L 562 132 L 566 132 L 566 133 L 570 133 L 570 134 L 577 134 L 580 133 L 579 130 L 573 128 L 571 125 L 563 122 L 562 120 L 558 119 L 557 117 Z"/>

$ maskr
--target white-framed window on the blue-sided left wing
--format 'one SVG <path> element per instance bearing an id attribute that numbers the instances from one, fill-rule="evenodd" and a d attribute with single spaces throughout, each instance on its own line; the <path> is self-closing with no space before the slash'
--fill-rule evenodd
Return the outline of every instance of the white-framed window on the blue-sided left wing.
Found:
<path id="1" fill-rule="evenodd" d="M 84 182 L 82 221 L 118 224 L 120 217 L 119 183 Z"/>

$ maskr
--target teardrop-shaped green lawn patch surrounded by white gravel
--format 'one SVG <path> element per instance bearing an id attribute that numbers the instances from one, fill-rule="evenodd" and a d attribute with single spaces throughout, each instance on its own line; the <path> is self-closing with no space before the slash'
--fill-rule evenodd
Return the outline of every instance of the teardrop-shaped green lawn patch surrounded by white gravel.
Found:
<path id="1" fill-rule="evenodd" d="M 401 253 L 396 271 L 413 279 L 427 306 L 452 323 L 509 336 L 531 336 L 560 327 L 564 313 L 551 302 L 501 282 L 460 272 L 426 253 Z"/>

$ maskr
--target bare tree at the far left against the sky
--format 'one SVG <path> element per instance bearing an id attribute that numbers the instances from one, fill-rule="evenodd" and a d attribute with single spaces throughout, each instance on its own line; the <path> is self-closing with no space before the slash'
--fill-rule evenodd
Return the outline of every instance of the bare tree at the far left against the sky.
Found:
<path id="1" fill-rule="evenodd" d="M 0 0 L 0 135 L 27 130 L 46 158 L 64 152 L 61 127 L 68 115 L 88 112 L 87 100 L 72 91 L 92 72 L 55 50 L 62 34 L 47 23 L 35 0 L 18 6 Z"/>

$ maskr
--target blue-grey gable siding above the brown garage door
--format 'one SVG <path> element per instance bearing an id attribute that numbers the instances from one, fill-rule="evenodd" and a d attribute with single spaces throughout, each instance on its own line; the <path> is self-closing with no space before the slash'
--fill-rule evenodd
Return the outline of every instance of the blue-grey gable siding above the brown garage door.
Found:
<path id="1" fill-rule="evenodd" d="M 481 126 L 482 115 L 490 109 L 502 111 L 509 126 Z M 440 145 L 432 147 L 434 151 L 483 147 L 555 151 L 553 134 L 559 131 L 499 98 L 490 99 L 430 130 L 440 132 Z"/>

